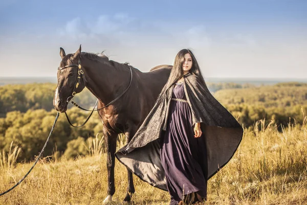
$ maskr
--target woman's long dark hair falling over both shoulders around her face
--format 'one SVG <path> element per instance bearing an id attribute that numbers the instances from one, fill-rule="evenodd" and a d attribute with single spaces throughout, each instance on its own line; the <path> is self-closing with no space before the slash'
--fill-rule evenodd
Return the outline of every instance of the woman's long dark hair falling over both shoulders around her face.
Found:
<path id="1" fill-rule="evenodd" d="M 180 78 L 182 78 L 184 76 L 183 75 L 182 65 L 184 63 L 184 55 L 187 54 L 187 53 L 189 53 L 191 55 L 191 57 L 192 57 L 192 67 L 189 70 L 189 73 L 192 74 L 192 75 L 198 76 L 199 80 L 201 81 L 201 84 L 204 85 L 205 87 L 207 87 L 206 83 L 205 83 L 205 80 L 204 80 L 204 77 L 202 75 L 200 66 L 199 66 L 199 64 L 198 64 L 198 62 L 197 62 L 193 52 L 191 50 L 189 50 L 189 49 L 182 49 L 181 51 L 179 51 L 177 53 L 177 55 L 175 57 L 174 65 L 173 65 L 173 68 L 170 71 L 167 83 L 163 87 L 160 95 L 158 96 L 158 100 L 157 101 L 162 99 L 162 97 L 166 94 L 167 90 L 173 84 L 175 84 L 177 82 L 177 80 L 179 80 Z"/>

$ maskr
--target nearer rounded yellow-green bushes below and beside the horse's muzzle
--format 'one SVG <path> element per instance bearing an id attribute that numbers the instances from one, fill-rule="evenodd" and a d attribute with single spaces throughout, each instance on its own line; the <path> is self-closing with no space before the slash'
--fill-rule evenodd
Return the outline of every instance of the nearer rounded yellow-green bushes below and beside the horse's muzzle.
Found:
<path id="1" fill-rule="evenodd" d="M 78 108 L 68 110 L 68 115 L 74 125 L 81 125 L 88 113 Z M 6 118 L 0 118 L 0 150 L 9 151 L 13 141 L 20 146 L 21 152 L 18 161 L 33 159 L 41 151 L 49 135 L 56 116 L 56 111 L 28 110 L 8 112 Z M 100 133 L 102 136 L 103 124 L 97 112 L 82 128 L 73 128 L 69 125 L 64 114 L 60 114 L 52 137 L 47 144 L 43 156 L 75 157 L 86 153 L 86 139 Z M 77 150 L 77 152 L 75 152 Z"/>

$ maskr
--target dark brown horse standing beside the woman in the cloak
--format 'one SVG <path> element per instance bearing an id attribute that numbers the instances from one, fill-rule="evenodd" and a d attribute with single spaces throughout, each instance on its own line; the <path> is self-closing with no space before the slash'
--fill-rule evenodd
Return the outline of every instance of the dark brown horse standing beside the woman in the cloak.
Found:
<path id="1" fill-rule="evenodd" d="M 98 56 L 92 53 L 81 53 L 81 46 L 74 54 L 66 55 L 60 48 L 62 58 L 57 73 L 57 88 L 55 90 L 53 105 L 59 112 L 67 110 L 67 99 L 73 97 L 72 93 L 81 92 L 84 87 L 89 89 L 98 99 L 98 109 L 117 98 L 130 83 L 130 69 L 128 64 L 120 64 L 109 60 L 105 55 Z M 80 63 L 82 69 L 77 67 Z M 70 65 L 73 65 L 69 67 Z M 161 65 L 152 68 L 150 72 L 143 73 L 131 67 L 133 78 L 129 89 L 114 103 L 99 110 L 104 124 L 103 134 L 106 141 L 107 152 L 107 197 L 103 202 L 112 201 L 115 193 L 114 165 L 117 136 L 124 133 L 126 141 L 135 135 L 143 120 L 156 102 L 159 93 L 166 84 L 172 66 Z M 83 71 L 83 77 L 78 80 L 78 71 Z M 77 88 L 76 84 L 78 84 Z M 128 172 L 128 187 L 124 201 L 130 201 L 135 192 L 132 173 Z"/>

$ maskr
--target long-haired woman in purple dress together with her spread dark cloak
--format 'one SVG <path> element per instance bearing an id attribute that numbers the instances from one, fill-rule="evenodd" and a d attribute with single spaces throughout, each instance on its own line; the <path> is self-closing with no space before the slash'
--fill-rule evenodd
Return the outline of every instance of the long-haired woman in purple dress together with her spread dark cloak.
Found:
<path id="1" fill-rule="evenodd" d="M 207 180 L 230 160 L 242 135 L 209 92 L 193 53 L 183 49 L 155 106 L 116 157 L 142 180 L 168 190 L 171 205 L 202 201 Z"/>

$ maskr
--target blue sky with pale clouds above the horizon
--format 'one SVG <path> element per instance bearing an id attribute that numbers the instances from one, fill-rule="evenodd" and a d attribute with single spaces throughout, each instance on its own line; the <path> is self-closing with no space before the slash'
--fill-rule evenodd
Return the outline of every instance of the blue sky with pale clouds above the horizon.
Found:
<path id="1" fill-rule="evenodd" d="M 59 47 L 141 71 L 191 48 L 206 77 L 307 78 L 307 1 L 2 1 L 1 76 L 56 76 Z"/>

